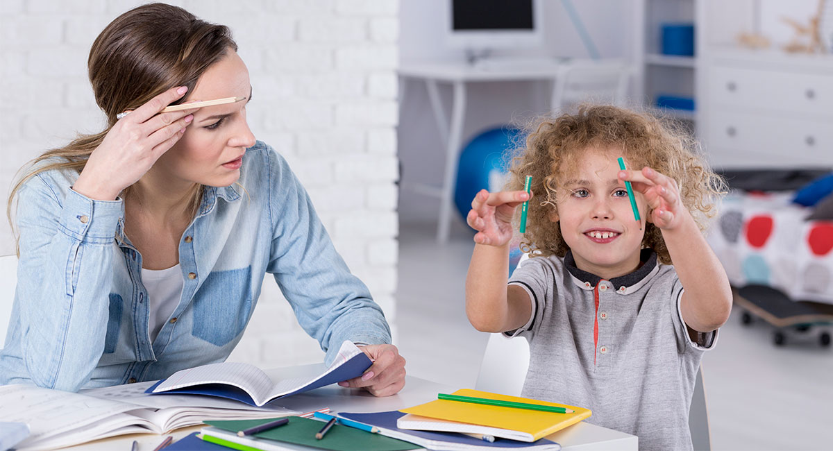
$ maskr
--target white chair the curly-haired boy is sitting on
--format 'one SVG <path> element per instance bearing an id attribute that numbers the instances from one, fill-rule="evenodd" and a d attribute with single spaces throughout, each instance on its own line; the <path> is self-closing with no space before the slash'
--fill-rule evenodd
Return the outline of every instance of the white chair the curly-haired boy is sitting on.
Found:
<path id="1" fill-rule="evenodd" d="M 520 396 L 526 369 L 529 368 L 529 343 L 523 337 L 506 338 L 491 334 L 483 354 L 475 389 L 491 393 Z M 697 371 L 694 396 L 688 414 L 691 443 L 697 451 L 711 449 L 709 416 L 706 411 L 706 391 L 703 389 L 703 369 Z"/>

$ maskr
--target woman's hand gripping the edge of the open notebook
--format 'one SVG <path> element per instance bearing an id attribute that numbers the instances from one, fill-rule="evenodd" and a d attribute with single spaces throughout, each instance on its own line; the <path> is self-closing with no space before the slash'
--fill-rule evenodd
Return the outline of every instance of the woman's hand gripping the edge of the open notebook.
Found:
<path id="1" fill-rule="evenodd" d="M 397 394 L 405 386 L 405 359 L 393 344 L 367 344 L 362 351 L 373 364 L 357 377 L 339 382 L 342 387 L 367 389 L 374 396 Z"/>

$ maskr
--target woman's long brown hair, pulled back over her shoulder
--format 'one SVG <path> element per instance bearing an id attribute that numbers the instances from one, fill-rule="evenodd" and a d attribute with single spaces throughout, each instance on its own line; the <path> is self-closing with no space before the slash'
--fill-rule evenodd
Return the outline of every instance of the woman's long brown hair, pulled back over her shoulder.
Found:
<path id="1" fill-rule="evenodd" d="M 118 113 L 141 107 L 172 87 L 187 86 L 191 92 L 202 73 L 228 49 L 237 51 L 228 27 L 205 22 L 181 7 L 149 3 L 116 17 L 92 43 L 87 58 L 92 92 L 107 115 L 107 128 L 79 135 L 66 146 L 45 151 L 29 162 L 8 196 L 6 215 L 12 229 L 12 201 L 24 183 L 44 171 L 80 174 L 92 151 L 116 124 Z M 174 103 L 186 100 L 183 97 Z M 189 203 L 194 212 L 200 196 L 202 186 Z"/>

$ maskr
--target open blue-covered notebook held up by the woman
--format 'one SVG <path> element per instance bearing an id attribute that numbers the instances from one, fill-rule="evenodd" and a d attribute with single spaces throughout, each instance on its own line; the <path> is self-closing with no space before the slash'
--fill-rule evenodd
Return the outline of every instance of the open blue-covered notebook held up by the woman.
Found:
<path id="1" fill-rule="evenodd" d="M 237 399 L 262 406 L 290 394 L 317 389 L 342 380 L 361 376 L 372 362 L 367 354 L 350 341 L 342 343 L 338 356 L 326 371 L 312 378 L 272 380 L 252 364 L 222 362 L 182 369 L 162 379 L 147 392 L 150 394 L 207 394 Z"/>

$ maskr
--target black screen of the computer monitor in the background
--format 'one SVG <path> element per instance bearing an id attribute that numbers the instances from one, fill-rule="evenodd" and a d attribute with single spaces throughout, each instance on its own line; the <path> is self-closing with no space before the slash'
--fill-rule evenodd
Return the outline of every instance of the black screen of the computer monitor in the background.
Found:
<path id="1" fill-rule="evenodd" d="M 454 30 L 531 30 L 532 0 L 452 0 Z"/>

